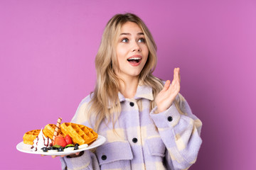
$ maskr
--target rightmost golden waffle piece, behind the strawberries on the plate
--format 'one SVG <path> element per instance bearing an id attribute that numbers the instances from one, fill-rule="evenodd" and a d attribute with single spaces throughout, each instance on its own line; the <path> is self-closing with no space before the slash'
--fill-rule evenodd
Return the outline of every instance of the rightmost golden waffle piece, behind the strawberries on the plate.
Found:
<path id="1" fill-rule="evenodd" d="M 75 123 L 63 123 L 60 125 L 60 130 L 63 132 L 63 136 L 70 135 L 73 143 L 78 143 L 79 145 L 90 145 L 98 136 L 91 128 Z"/>

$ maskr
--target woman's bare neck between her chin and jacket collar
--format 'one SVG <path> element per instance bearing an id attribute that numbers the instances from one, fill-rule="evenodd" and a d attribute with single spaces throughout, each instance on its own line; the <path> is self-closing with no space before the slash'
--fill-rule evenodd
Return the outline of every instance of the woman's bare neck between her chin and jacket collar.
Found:
<path id="1" fill-rule="evenodd" d="M 119 91 L 125 98 L 134 98 L 139 84 L 139 77 L 122 77 L 119 79 Z"/>

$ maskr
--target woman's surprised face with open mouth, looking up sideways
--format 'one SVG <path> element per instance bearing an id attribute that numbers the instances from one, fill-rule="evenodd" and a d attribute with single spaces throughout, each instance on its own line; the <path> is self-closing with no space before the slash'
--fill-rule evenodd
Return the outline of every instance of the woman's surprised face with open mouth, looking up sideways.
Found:
<path id="1" fill-rule="evenodd" d="M 119 64 L 119 71 L 115 71 L 117 77 L 138 77 L 148 58 L 149 49 L 137 23 L 127 22 L 122 25 L 116 52 Z"/>

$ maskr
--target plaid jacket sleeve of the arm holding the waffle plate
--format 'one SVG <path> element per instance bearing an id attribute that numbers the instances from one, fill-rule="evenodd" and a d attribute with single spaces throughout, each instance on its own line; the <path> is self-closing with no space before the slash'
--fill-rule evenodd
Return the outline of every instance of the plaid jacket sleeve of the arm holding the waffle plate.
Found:
<path id="1" fill-rule="evenodd" d="M 87 96 L 82 100 L 78 109 L 71 120 L 72 123 L 78 123 L 86 125 L 92 128 L 85 116 L 85 109 L 87 103 L 90 101 L 90 97 Z M 80 157 L 60 157 L 61 169 L 86 169 L 86 170 L 100 170 L 100 165 L 97 160 L 96 154 L 90 151 L 85 151 Z"/>

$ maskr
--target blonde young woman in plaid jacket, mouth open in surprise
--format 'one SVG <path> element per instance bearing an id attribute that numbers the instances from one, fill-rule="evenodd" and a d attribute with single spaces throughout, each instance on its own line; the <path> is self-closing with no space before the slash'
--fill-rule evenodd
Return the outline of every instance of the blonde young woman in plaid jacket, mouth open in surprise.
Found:
<path id="1" fill-rule="evenodd" d="M 188 169 L 201 146 L 201 121 L 179 94 L 180 70 L 154 77 L 156 44 L 132 13 L 107 23 L 95 59 L 97 84 L 72 122 L 106 137 L 95 151 L 61 157 L 62 169 Z"/>

